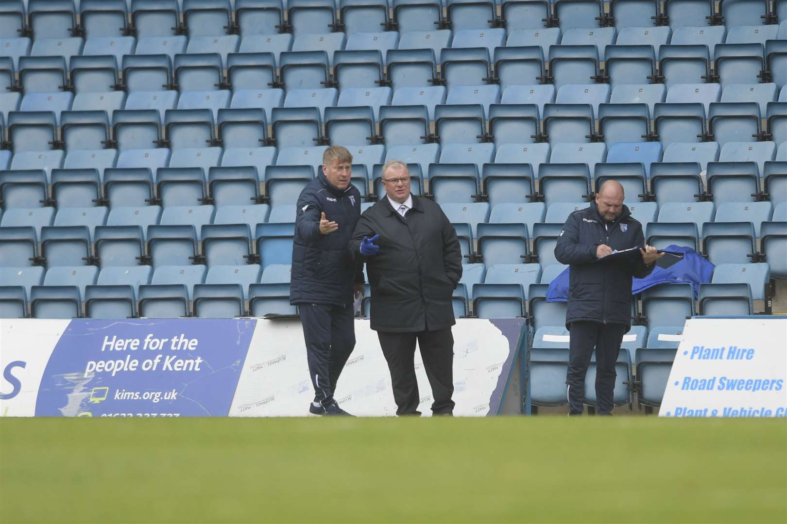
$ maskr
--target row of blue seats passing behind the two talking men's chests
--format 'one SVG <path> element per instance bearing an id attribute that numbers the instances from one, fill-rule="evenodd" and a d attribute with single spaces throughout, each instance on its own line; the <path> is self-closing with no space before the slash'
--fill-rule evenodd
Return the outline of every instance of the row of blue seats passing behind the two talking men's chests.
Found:
<path id="1" fill-rule="evenodd" d="M 278 211 L 286 212 L 290 207 Z M 500 203 L 490 211 L 487 203 L 442 204 L 469 262 L 539 262 L 542 266 L 558 263 L 553 251 L 563 222 L 568 213 L 582 207 L 586 203 L 555 203 L 546 211 L 543 203 Z M 776 240 L 787 234 L 787 203 L 781 203 L 775 213 L 769 202 L 725 203 L 715 213 L 708 202 L 671 203 L 658 211 L 660 222 L 656 222 L 654 203 L 635 204 L 630 209 L 645 220 L 648 244 L 690 247 L 717 265 L 766 261 L 774 277 L 787 278 L 785 246 Z M 294 235 L 292 222 L 261 222 L 268 211 L 264 204 L 220 207 L 212 222 L 212 206 L 170 207 L 161 219 L 157 218 L 159 207 L 119 207 L 106 224 L 103 219 L 86 220 L 103 218 L 105 208 L 67 208 L 58 212 L 54 226 L 31 220 L 46 215 L 42 210 L 17 211 L 6 212 L 2 220 L 0 246 L 5 252 L 0 266 L 140 263 L 158 267 L 192 261 L 208 266 L 247 262 L 267 267 L 290 263 Z M 126 247 L 120 249 L 120 245 Z M 271 245 L 281 251 L 266 247 Z M 53 255 L 57 246 L 66 246 L 65 251 Z"/>

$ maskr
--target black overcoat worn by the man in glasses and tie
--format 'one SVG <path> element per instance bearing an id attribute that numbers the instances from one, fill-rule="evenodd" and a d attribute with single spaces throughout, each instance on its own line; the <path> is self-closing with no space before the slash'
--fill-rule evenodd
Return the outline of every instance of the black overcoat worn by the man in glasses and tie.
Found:
<path id="1" fill-rule="evenodd" d="M 462 251 L 449 219 L 432 200 L 412 196 L 407 218 L 383 197 L 361 214 L 349 242 L 360 255 L 364 236 L 379 235 L 377 255 L 366 257 L 371 284 L 371 328 L 423 332 L 449 328 L 451 295 L 462 277 Z"/>

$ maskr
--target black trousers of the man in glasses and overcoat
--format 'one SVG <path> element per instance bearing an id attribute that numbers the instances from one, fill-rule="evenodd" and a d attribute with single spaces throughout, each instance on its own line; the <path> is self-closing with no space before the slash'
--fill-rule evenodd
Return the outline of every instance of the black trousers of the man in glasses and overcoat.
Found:
<path id="1" fill-rule="evenodd" d="M 453 335 L 451 328 L 418 333 L 377 332 L 382 354 L 388 362 L 397 415 L 420 415 L 418 382 L 413 359 L 416 340 L 421 349 L 423 368 L 432 387 L 432 412 L 453 413 Z"/>

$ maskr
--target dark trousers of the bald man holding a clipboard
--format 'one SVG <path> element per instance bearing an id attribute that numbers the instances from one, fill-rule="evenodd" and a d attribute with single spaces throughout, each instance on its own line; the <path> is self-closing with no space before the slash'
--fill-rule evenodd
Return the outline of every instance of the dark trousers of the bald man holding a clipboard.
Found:
<path id="1" fill-rule="evenodd" d="M 607 415 L 615 405 L 615 362 L 627 328 L 623 324 L 578 321 L 571 323 L 568 346 L 568 405 L 572 415 L 582 413 L 585 404 L 585 376 L 590 357 L 596 350 L 596 398 L 599 415 Z"/>

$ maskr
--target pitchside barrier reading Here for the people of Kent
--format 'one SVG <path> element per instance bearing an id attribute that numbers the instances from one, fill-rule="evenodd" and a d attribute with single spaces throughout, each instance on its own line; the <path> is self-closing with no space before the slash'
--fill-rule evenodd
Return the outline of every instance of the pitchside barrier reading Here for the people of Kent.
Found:
<path id="1" fill-rule="evenodd" d="M 519 414 L 526 321 L 453 328 L 455 415 Z M 360 416 L 396 412 L 376 332 L 357 343 L 335 398 Z M 431 388 L 420 355 L 419 410 Z M 0 416 L 305 416 L 312 401 L 297 319 L 0 321 Z"/>

